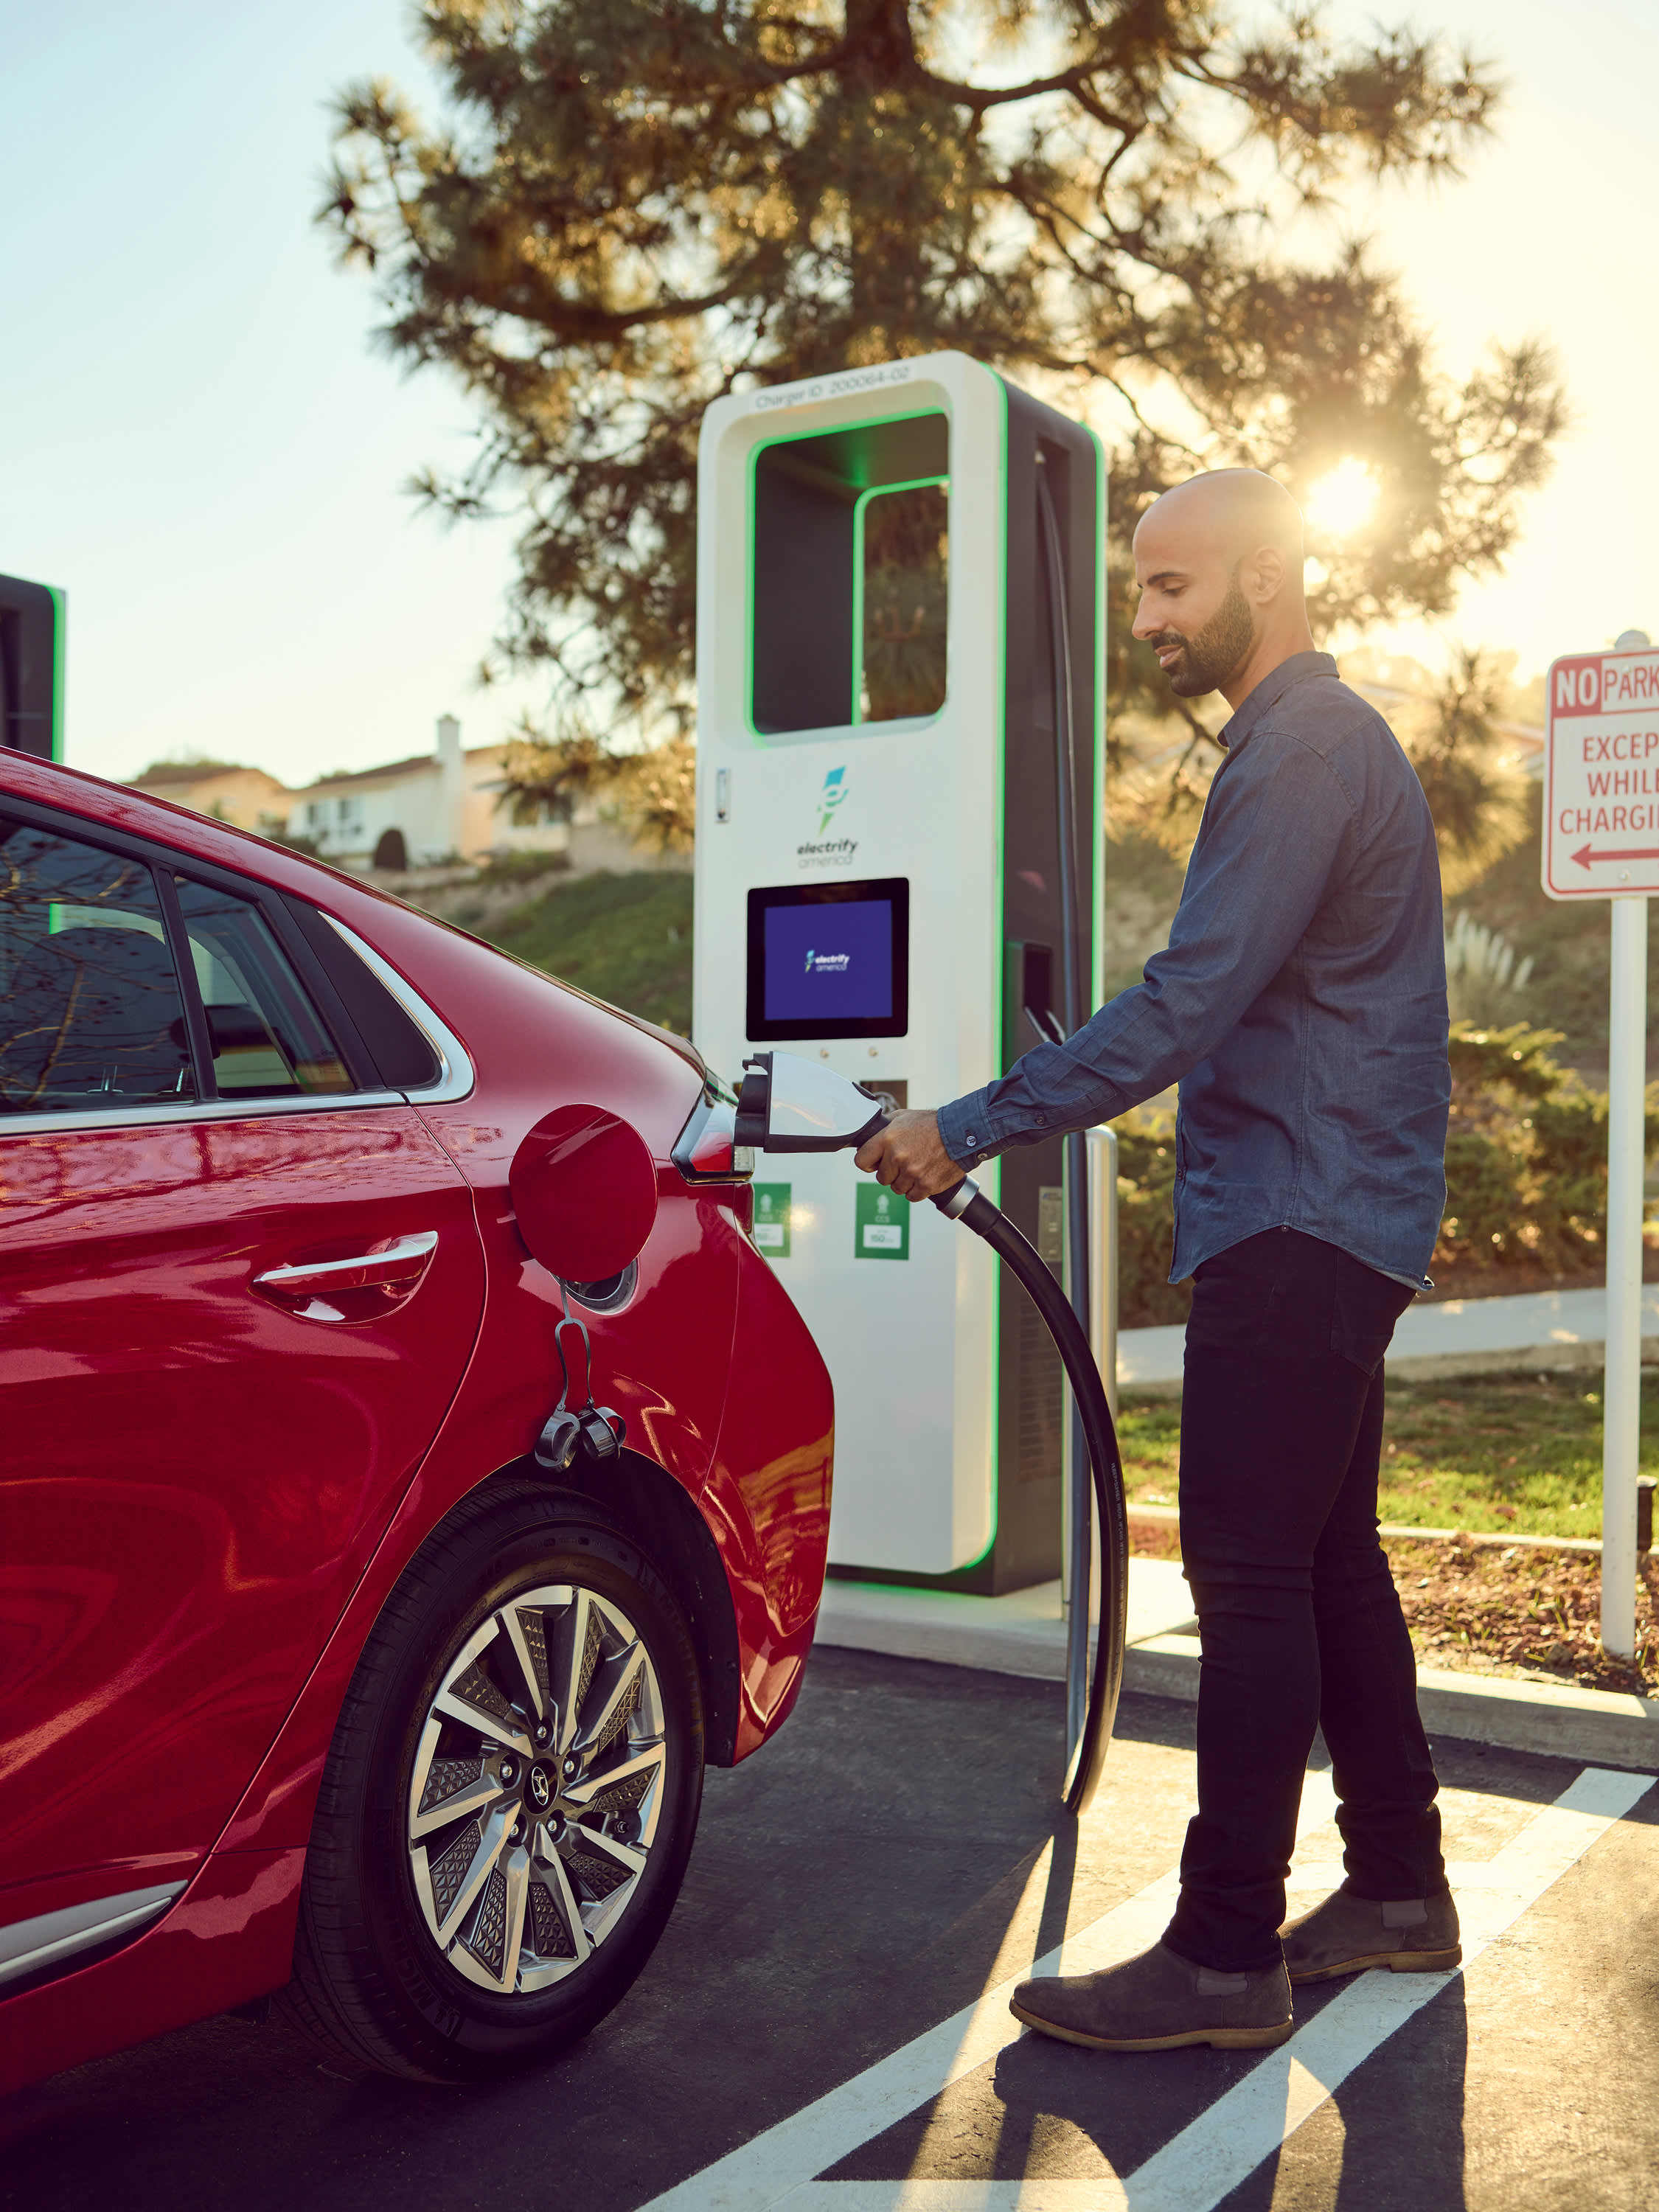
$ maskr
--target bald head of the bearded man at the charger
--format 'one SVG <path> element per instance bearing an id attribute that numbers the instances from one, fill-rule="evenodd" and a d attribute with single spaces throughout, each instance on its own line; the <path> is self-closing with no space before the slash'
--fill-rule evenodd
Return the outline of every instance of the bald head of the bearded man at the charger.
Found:
<path id="1" fill-rule="evenodd" d="M 1135 635 L 1186 699 L 1223 690 L 1237 706 L 1312 646 L 1301 509 L 1261 469 L 1210 469 L 1155 500 L 1135 531 Z"/>

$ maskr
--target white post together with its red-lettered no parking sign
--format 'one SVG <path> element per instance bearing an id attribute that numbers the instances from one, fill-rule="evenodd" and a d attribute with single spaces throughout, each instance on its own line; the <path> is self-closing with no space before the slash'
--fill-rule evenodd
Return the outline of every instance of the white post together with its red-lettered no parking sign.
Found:
<path id="1" fill-rule="evenodd" d="M 1542 874 L 1548 898 L 1613 907 L 1601 1646 L 1628 1659 L 1637 1648 L 1648 898 L 1659 891 L 1659 653 L 1639 630 L 1619 650 L 1575 655 L 1548 672 Z"/>

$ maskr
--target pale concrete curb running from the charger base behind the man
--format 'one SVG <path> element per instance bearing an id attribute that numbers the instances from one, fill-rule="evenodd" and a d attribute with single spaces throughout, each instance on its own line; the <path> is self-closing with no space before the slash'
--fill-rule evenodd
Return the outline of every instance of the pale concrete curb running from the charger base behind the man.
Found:
<path id="1" fill-rule="evenodd" d="M 1146 1564 L 1168 1562 L 1135 1562 Z M 1157 1577 L 1157 1586 L 1141 1577 L 1141 1588 L 1133 1577 L 1124 1688 L 1194 1703 L 1199 1639 L 1183 1632 L 1186 1624 L 1175 1626 L 1175 1619 L 1159 1626 L 1159 1613 L 1179 1615 L 1170 1577 Z M 818 1641 L 991 1674 L 1040 1681 L 1066 1677 L 1057 1584 L 1015 1590 L 1011 1597 L 960 1597 L 832 1582 L 823 1593 Z M 1659 1699 L 1652 1697 L 1418 1668 L 1418 1710 L 1431 1736 L 1659 1774 Z"/>

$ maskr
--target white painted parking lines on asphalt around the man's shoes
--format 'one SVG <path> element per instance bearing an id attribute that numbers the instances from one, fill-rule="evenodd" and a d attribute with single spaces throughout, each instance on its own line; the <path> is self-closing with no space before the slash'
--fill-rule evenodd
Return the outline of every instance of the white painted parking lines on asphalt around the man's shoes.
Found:
<path id="1" fill-rule="evenodd" d="M 1648 1794 L 1652 1778 L 1586 1767 L 1482 1869 L 1460 1898 L 1464 1964 L 1495 1942 L 1590 1845 Z M 1310 1774 L 1301 1834 L 1329 1818 L 1329 1776 Z M 1091 1973 L 1157 1942 L 1175 1871 L 1048 1951 L 1033 1973 Z M 975 2004 L 918 2035 L 852 2081 L 779 2121 L 741 2150 L 655 2197 L 644 2212 L 1210 2212 L 1270 2157 L 1398 2026 L 1453 1975 L 1365 1973 L 1128 2179 L 814 2181 L 951 2081 L 1020 2037 L 1006 2002 L 1013 1973 Z"/>

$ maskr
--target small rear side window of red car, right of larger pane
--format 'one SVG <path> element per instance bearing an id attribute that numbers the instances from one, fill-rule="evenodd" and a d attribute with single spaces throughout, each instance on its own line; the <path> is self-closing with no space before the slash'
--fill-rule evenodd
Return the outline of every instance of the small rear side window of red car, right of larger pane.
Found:
<path id="1" fill-rule="evenodd" d="M 259 907 L 188 876 L 177 876 L 175 885 L 219 1097 L 354 1091 L 334 1037 Z"/>

